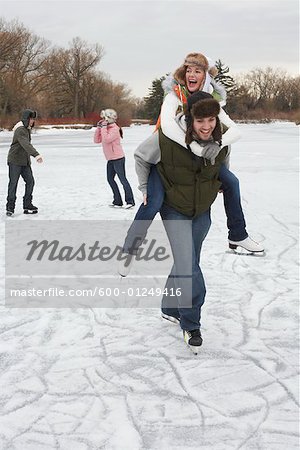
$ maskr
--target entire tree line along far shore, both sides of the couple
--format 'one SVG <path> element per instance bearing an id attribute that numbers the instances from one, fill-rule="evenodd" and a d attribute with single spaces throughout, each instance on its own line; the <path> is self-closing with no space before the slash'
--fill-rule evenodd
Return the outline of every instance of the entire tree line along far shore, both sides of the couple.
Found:
<path id="1" fill-rule="evenodd" d="M 68 48 L 53 47 L 17 21 L 0 18 L 0 126 L 15 123 L 20 111 L 37 109 L 42 119 L 97 121 L 99 111 L 111 107 L 120 121 L 156 121 L 164 97 L 155 79 L 143 99 L 126 84 L 114 82 L 99 70 L 104 48 L 75 37 Z M 299 120 L 300 77 L 282 69 L 255 68 L 235 79 L 221 60 L 216 80 L 228 93 L 227 111 L 236 119 L 285 118 Z"/>

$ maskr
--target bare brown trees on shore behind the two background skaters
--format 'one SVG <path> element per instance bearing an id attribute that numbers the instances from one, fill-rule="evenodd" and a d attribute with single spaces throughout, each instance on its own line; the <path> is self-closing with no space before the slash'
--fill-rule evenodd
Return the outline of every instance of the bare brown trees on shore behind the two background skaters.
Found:
<path id="1" fill-rule="evenodd" d="M 111 107 L 123 121 L 136 99 L 123 83 L 97 66 L 104 48 L 75 37 L 69 48 L 52 47 L 17 21 L 0 19 L 0 120 L 34 107 L 42 118 L 92 118 Z"/>

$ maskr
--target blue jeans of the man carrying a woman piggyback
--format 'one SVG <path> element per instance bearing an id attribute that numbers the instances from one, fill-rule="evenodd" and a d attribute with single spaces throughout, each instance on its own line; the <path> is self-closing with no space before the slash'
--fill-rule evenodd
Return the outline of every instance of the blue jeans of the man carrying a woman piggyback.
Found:
<path id="1" fill-rule="evenodd" d="M 210 209 L 191 218 L 163 204 L 160 213 L 174 259 L 164 288 L 162 312 L 180 318 L 183 330 L 196 330 L 200 328 L 206 294 L 199 263 L 202 243 L 211 224 Z M 178 295 L 174 297 L 176 290 Z"/>

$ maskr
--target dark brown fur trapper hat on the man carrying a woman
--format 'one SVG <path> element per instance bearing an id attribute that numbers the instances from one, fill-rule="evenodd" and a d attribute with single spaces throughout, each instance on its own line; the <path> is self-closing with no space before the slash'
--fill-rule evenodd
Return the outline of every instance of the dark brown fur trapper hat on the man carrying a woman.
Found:
<path id="1" fill-rule="evenodd" d="M 194 140 L 193 120 L 205 117 L 216 117 L 216 127 L 212 133 L 214 141 L 221 142 L 222 130 L 218 115 L 220 114 L 220 104 L 207 92 L 198 91 L 187 99 L 185 120 L 187 125 L 185 142 L 190 144 Z"/>

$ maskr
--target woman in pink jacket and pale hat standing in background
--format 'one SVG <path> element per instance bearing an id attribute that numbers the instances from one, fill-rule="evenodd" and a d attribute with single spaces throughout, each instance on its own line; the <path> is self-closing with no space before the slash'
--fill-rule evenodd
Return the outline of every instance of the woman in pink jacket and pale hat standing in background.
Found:
<path id="1" fill-rule="evenodd" d="M 103 153 L 107 159 L 107 181 L 113 191 L 113 202 L 111 207 L 121 208 L 123 200 L 115 182 L 115 176 L 118 178 L 124 188 L 126 209 L 132 208 L 134 203 L 133 192 L 126 178 L 125 173 L 125 155 L 121 145 L 123 133 L 116 124 L 117 113 L 114 109 L 105 109 L 101 111 L 101 120 L 97 124 L 94 135 L 94 142 L 102 144 Z"/>

